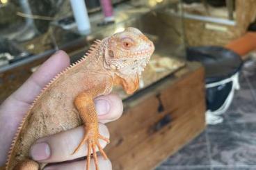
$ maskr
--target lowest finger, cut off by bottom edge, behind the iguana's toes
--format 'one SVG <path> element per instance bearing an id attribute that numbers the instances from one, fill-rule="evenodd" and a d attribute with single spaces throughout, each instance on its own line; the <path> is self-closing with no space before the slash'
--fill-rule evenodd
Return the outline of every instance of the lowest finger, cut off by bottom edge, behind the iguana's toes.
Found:
<path id="1" fill-rule="evenodd" d="M 112 169 L 112 164 L 109 160 L 104 160 L 101 156 L 98 157 L 98 165 L 99 169 L 104 169 L 104 170 L 111 170 Z M 76 162 L 70 162 L 70 163 L 62 163 L 62 164 L 56 164 L 56 165 L 51 165 L 49 167 L 46 167 L 45 170 L 84 170 L 86 169 L 86 161 L 85 160 L 80 160 Z M 95 164 L 93 161 L 90 162 L 90 169 L 95 169 Z"/>

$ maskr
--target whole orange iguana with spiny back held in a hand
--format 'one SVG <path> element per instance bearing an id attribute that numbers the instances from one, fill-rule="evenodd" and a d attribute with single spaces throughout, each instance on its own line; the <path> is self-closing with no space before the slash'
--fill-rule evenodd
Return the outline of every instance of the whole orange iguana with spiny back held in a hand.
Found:
<path id="1" fill-rule="evenodd" d="M 29 160 L 32 144 L 81 124 L 85 133 L 74 154 L 86 143 L 97 167 L 96 147 L 106 158 L 98 140 L 109 139 L 99 134 L 93 99 L 109 94 L 113 85 L 122 85 L 128 94 L 137 90 L 138 78 L 153 51 L 154 44 L 136 28 L 95 41 L 86 56 L 58 74 L 35 99 L 13 139 L 6 169 L 38 169 L 42 164 Z M 90 156 L 87 169 L 89 164 Z"/>

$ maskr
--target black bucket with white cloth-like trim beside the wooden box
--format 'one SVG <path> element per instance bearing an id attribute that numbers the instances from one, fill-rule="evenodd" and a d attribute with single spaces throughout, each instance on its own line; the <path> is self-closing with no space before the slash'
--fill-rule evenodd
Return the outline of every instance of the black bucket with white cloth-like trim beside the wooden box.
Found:
<path id="1" fill-rule="evenodd" d="M 222 114 L 232 101 L 232 93 L 239 88 L 241 57 L 222 46 L 189 47 L 186 56 L 187 60 L 201 62 L 205 67 L 208 112 Z"/>

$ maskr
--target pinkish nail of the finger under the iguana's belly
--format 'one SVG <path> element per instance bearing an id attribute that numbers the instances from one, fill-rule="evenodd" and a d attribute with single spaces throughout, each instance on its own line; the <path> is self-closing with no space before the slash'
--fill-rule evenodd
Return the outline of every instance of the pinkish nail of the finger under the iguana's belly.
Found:
<path id="1" fill-rule="evenodd" d="M 50 155 L 50 147 L 45 142 L 34 144 L 31 147 L 31 156 L 33 160 L 46 160 Z"/>

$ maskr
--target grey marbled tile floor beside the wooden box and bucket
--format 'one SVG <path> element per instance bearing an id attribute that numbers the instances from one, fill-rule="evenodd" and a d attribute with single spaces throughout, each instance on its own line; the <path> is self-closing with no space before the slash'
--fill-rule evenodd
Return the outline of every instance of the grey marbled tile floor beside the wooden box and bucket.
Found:
<path id="1" fill-rule="evenodd" d="M 256 59 L 246 61 L 222 124 L 204 133 L 156 170 L 256 170 Z"/>

